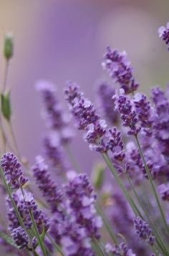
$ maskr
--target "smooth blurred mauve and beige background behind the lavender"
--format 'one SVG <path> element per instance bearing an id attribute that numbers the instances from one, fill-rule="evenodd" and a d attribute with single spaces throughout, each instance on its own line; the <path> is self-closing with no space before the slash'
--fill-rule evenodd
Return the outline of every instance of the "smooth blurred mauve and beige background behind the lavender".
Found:
<path id="1" fill-rule="evenodd" d="M 107 78 L 101 66 L 107 45 L 127 51 L 141 91 L 148 92 L 157 84 L 165 87 L 169 54 L 157 29 L 169 21 L 168 10 L 168 0 L 0 0 L 0 49 L 4 34 L 14 34 L 8 86 L 22 155 L 32 163 L 42 152 L 45 126 L 36 81 L 56 83 L 65 106 L 67 80 L 77 81 L 95 101 L 97 82 Z M 1 50 L 1 81 L 3 76 Z M 77 133 L 72 149 L 84 168 L 91 168 L 95 154 L 88 150 L 81 134 Z"/>

